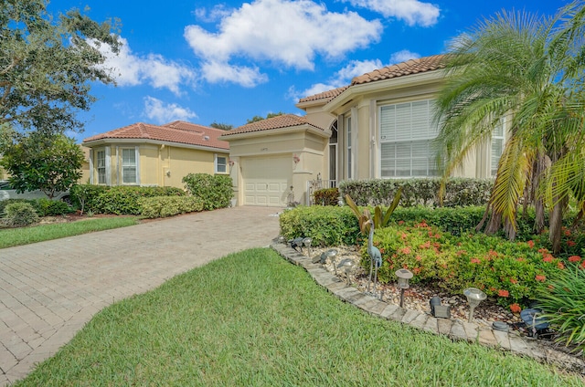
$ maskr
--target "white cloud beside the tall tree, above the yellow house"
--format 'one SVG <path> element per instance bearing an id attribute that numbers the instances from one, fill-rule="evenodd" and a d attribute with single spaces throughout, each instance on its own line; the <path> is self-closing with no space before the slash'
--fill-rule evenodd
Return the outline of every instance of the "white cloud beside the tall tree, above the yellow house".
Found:
<path id="1" fill-rule="evenodd" d="M 102 65 L 113 68 L 112 76 L 120 86 L 137 86 L 148 83 L 155 89 L 169 89 L 180 94 L 180 86 L 192 84 L 196 73 L 192 68 L 166 60 L 158 54 L 140 57 L 134 55 L 128 41 L 121 37 L 122 47 L 116 55 L 111 47 L 101 45 L 100 51 L 106 57 Z"/>

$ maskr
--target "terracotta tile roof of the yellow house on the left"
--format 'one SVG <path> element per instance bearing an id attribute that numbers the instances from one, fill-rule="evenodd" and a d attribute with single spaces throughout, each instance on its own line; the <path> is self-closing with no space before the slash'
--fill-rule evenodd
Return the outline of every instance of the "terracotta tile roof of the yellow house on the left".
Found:
<path id="1" fill-rule="evenodd" d="M 218 140 L 218 137 L 225 134 L 215 128 L 208 128 L 185 121 L 169 122 L 165 125 L 151 125 L 138 122 L 123 128 L 105 133 L 97 134 L 83 140 L 84 144 L 97 140 L 152 140 L 176 142 L 187 145 L 198 145 L 208 148 L 229 150 L 229 142 Z"/>

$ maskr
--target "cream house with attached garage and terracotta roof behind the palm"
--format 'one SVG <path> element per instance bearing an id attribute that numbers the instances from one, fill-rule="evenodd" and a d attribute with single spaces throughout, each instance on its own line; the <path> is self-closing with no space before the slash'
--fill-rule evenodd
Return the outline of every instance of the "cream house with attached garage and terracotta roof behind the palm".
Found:
<path id="1" fill-rule="evenodd" d="M 350 85 L 300 99 L 303 117 L 286 115 L 221 136 L 236 163 L 238 203 L 309 203 L 311 187 L 347 179 L 438 175 L 431 141 L 438 134 L 433 98 L 441 88 L 441 55 L 411 59 L 352 79 Z M 469 155 L 457 176 L 495 175 L 505 122 Z M 313 184 L 313 185 L 312 185 Z"/>

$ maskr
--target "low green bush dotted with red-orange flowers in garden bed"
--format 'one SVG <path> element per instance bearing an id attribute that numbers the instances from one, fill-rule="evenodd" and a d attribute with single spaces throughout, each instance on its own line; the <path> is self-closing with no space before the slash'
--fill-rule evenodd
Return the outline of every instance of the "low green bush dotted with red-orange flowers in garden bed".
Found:
<path id="1" fill-rule="evenodd" d="M 396 270 L 405 267 L 415 275 L 411 283 L 432 284 L 452 294 L 481 288 L 504 307 L 526 304 L 543 279 L 565 267 L 537 242 L 509 242 L 484 234 L 453 236 L 421 221 L 377 229 L 375 245 L 382 252 L 382 283 L 395 282 Z M 366 246 L 362 257 L 368 268 Z M 580 264 L 576 257 L 571 261 Z"/>

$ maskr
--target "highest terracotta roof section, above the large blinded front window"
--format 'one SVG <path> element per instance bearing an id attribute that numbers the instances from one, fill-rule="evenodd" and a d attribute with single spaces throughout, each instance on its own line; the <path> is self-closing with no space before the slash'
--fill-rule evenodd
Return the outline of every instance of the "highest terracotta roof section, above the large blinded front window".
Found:
<path id="1" fill-rule="evenodd" d="M 361 85 L 364 83 L 375 82 L 377 80 L 398 78 L 405 75 L 418 74 L 444 68 L 444 58 L 444 55 L 433 55 L 431 57 L 410 59 L 406 62 L 387 66 L 385 68 L 379 68 L 364 75 L 360 75 L 359 77 L 353 78 L 351 85 Z"/>

